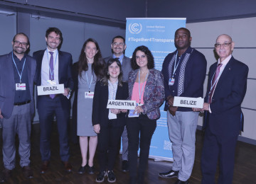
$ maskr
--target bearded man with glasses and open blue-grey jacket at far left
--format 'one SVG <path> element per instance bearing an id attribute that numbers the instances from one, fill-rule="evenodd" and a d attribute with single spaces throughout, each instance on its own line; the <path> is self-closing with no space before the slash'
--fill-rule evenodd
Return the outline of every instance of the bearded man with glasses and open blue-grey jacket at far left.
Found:
<path id="1" fill-rule="evenodd" d="M 28 36 L 14 36 L 13 51 L 0 56 L 0 118 L 3 125 L 4 180 L 8 180 L 15 168 L 15 137 L 18 134 L 18 154 L 23 176 L 33 178 L 29 166 L 31 151 L 31 117 L 34 113 L 33 78 L 36 60 L 26 54 Z"/>

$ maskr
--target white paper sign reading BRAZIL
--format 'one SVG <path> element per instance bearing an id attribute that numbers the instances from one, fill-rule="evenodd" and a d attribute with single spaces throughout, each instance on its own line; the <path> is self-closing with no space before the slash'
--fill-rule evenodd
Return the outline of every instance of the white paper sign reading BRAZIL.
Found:
<path id="1" fill-rule="evenodd" d="M 38 96 L 64 93 L 64 84 L 56 84 L 51 86 L 37 86 L 37 88 Z"/>

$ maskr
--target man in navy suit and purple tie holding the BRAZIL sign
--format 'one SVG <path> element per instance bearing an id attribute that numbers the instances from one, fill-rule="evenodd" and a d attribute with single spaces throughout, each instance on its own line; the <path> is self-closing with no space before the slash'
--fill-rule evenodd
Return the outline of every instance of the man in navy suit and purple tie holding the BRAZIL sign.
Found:
<path id="1" fill-rule="evenodd" d="M 36 58 L 36 85 L 50 86 L 63 84 L 64 93 L 58 95 L 37 96 L 37 108 L 40 122 L 40 151 L 43 164 L 41 173 L 48 170 L 50 163 L 50 133 L 55 115 L 60 142 L 60 159 L 65 170 L 70 172 L 72 166 L 68 162 L 70 151 L 68 146 L 68 122 L 70 120 L 70 91 L 73 89 L 71 75 L 72 56 L 68 52 L 61 52 L 60 43 L 62 33 L 58 28 L 46 30 L 46 50 L 33 53 Z"/>

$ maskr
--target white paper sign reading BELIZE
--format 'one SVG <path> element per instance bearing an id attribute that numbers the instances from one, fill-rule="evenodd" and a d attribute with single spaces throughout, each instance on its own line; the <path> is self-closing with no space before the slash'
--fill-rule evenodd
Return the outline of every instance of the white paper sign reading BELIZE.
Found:
<path id="1" fill-rule="evenodd" d="M 203 108 L 203 98 L 174 96 L 174 106 L 183 108 Z"/>

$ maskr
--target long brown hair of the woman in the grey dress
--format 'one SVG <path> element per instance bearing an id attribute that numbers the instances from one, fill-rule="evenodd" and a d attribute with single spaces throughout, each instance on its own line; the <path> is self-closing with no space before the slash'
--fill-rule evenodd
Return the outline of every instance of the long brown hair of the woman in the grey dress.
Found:
<path id="1" fill-rule="evenodd" d="M 100 52 L 100 47 L 96 40 L 89 38 L 85 41 L 85 43 L 82 45 L 82 50 L 80 52 L 79 60 L 78 60 L 78 74 L 80 78 L 82 78 L 82 71 L 87 71 L 88 70 L 88 63 L 87 63 L 87 58 L 85 55 L 85 47 L 88 42 L 94 42 L 96 45 L 97 53 L 95 54 L 95 57 L 93 58 L 93 63 L 92 63 L 92 71 L 95 73 L 97 76 L 97 80 L 102 79 L 104 76 L 104 67 L 105 67 L 105 62 L 102 59 L 102 54 Z"/>

